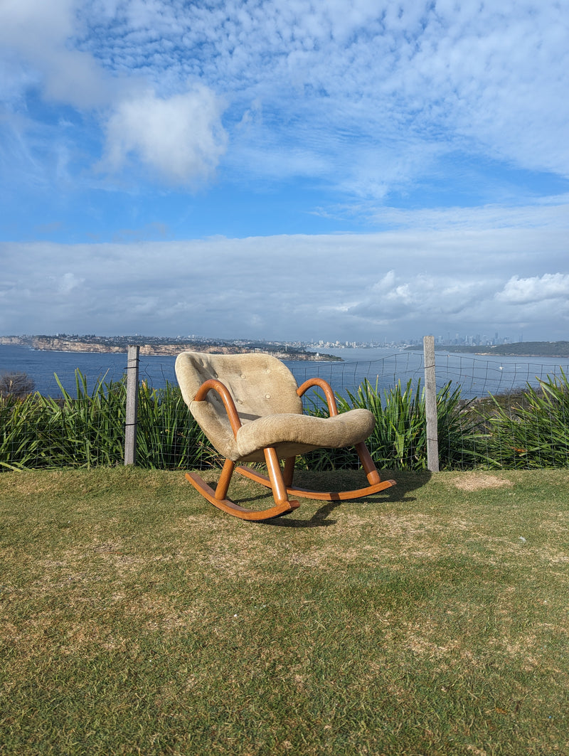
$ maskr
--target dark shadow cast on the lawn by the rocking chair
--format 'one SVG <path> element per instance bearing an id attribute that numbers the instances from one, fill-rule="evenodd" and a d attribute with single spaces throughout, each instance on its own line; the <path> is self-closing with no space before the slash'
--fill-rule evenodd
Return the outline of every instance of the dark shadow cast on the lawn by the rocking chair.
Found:
<path id="1" fill-rule="evenodd" d="M 380 491 L 378 494 L 371 494 L 361 499 L 345 500 L 345 501 L 326 501 L 322 503 L 320 507 L 312 514 L 308 519 L 300 519 L 298 517 L 291 517 L 289 515 L 283 517 L 276 517 L 274 519 L 261 520 L 257 522 L 258 525 L 264 525 L 266 527 L 273 528 L 327 528 L 330 525 L 336 525 L 338 520 L 331 519 L 331 515 L 337 507 L 357 507 L 363 503 L 374 503 L 378 507 L 384 507 L 394 503 L 411 503 L 416 500 L 416 497 L 410 495 L 417 488 L 422 488 L 431 479 L 431 472 L 428 470 L 419 470 L 417 472 L 407 472 L 402 470 L 396 471 L 381 471 L 382 479 L 394 479 L 397 481 L 397 485 L 391 488 L 385 488 L 384 491 Z M 361 476 L 361 472 L 359 473 Z M 343 482 L 339 479 L 344 479 Z M 346 480 L 348 479 L 348 480 Z M 305 472 L 299 470 L 295 473 L 295 485 L 306 486 L 307 488 L 314 488 L 314 490 L 329 491 L 330 488 L 341 489 L 343 485 L 354 485 L 357 483 L 358 473 L 353 470 L 336 470 L 334 472 Z M 270 496 L 271 494 L 261 494 Z M 258 501 L 258 495 L 254 497 L 248 497 L 249 501 Z M 306 509 L 311 507 L 310 499 L 299 499 L 300 509 L 298 513 L 302 512 L 303 505 Z M 242 502 L 240 502 L 242 503 Z"/>

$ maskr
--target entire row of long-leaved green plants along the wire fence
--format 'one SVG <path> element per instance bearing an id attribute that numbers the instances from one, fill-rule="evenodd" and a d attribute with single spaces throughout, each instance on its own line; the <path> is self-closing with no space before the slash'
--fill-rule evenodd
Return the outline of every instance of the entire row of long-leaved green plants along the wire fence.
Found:
<path id="1" fill-rule="evenodd" d="M 120 465 L 124 460 L 126 382 L 97 380 L 90 389 L 76 371 L 75 395 L 35 392 L 0 396 L 0 470 Z M 367 445 L 376 465 L 387 469 L 427 467 L 425 392 L 420 381 L 379 391 L 364 380 L 355 392 L 337 395 L 340 412 L 369 409 L 376 427 Z M 441 469 L 484 466 L 528 469 L 569 466 L 569 383 L 561 377 L 529 384 L 512 401 L 492 397 L 463 402 L 460 387 L 447 383 L 437 394 Z M 317 392 L 307 412 L 327 414 Z M 150 389 L 138 399 L 138 466 L 196 469 L 221 459 L 191 417 L 178 386 Z M 354 469 L 353 449 L 320 449 L 299 460 L 309 469 Z"/>

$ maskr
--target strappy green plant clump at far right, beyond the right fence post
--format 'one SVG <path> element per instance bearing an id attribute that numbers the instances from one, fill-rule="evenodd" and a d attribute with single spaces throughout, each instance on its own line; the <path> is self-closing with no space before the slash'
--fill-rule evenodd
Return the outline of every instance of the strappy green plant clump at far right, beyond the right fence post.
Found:
<path id="1" fill-rule="evenodd" d="M 490 398 L 484 432 L 472 436 L 481 463 L 502 469 L 569 467 L 569 383 L 562 369 L 537 389 L 527 383 L 523 402 Z"/>

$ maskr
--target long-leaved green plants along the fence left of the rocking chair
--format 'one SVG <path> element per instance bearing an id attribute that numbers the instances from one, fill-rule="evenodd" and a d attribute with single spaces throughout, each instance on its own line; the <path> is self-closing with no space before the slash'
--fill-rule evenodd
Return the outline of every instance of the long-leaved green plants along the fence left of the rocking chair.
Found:
<path id="1" fill-rule="evenodd" d="M 76 370 L 76 395 L 60 383 L 60 398 L 38 392 L 0 398 L 0 469 L 122 464 L 125 443 L 125 380 L 97 380 L 89 390 Z M 211 466 L 215 452 L 190 417 L 177 386 L 149 389 L 138 401 L 137 464 L 172 469 Z"/>

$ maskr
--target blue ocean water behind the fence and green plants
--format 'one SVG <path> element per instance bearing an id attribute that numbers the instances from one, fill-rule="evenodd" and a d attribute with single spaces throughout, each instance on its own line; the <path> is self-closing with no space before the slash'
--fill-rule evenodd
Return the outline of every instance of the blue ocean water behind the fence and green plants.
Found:
<path id="1" fill-rule="evenodd" d="M 380 390 L 389 389 L 400 380 L 415 385 L 424 382 L 422 352 L 397 349 L 339 349 L 328 353 L 338 355 L 342 362 L 288 361 L 298 383 L 312 376 L 327 380 L 337 392 L 354 391 L 364 379 Z M 140 358 L 140 377 L 149 386 L 160 389 L 165 383 L 176 383 L 175 357 Z M 462 397 L 472 398 L 515 391 L 527 383 L 537 385 L 547 376 L 569 375 L 569 361 L 560 358 L 499 357 L 497 355 L 459 355 L 452 352 L 435 354 L 437 385 L 448 381 L 462 386 Z M 25 346 L 0 345 L 0 373 L 27 373 L 43 395 L 60 396 L 54 373 L 63 388 L 76 393 L 76 370 L 92 389 L 97 380 L 120 380 L 126 370 L 126 352 L 99 354 L 91 352 L 43 352 Z"/>

